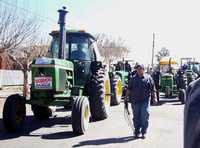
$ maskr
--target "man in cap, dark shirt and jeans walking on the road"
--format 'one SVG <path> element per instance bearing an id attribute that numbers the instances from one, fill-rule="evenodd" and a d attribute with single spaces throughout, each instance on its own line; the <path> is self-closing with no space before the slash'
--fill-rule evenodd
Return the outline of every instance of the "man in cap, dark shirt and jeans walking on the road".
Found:
<path id="1" fill-rule="evenodd" d="M 150 97 L 154 104 L 156 103 L 155 86 L 151 76 L 144 72 L 143 64 L 137 64 L 135 68 L 136 74 L 128 83 L 126 96 L 129 97 L 132 106 L 135 138 L 142 134 L 142 138 L 145 139 L 149 125 Z"/>

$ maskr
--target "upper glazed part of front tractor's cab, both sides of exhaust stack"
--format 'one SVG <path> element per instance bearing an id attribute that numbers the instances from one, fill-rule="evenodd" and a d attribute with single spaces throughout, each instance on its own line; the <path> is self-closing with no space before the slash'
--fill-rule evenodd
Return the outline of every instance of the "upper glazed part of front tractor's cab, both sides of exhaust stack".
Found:
<path id="1" fill-rule="evenodd" d="M 67 33 L 66 35 L 66 59 L 93 61 L 99 57 L 96 48 L 95 40 L 86 33 Z M 50 55 L 58 58 L 58 53 L 59 38 L 58 35 L 53 35 Z"/>

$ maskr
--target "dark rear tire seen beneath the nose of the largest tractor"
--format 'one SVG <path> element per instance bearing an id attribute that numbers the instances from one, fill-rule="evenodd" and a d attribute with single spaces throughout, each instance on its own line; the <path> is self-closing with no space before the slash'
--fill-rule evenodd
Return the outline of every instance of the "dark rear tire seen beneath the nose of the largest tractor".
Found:
<path id="1" fill-rule="evenodd" d="M 49 119 L 52 116 L 52 110 L 46 106 L 31 105 L 34 117 L 37 119 Z"/>

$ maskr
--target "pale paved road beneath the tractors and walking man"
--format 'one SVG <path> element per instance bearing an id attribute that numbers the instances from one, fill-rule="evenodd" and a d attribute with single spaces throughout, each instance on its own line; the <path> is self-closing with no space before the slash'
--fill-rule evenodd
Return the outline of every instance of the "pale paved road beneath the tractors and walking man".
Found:
<path id="1" fill-rule="evenodd" d="M 150 109 L 151 122 L 147 138 L 134 140 L 123 116 L 123 105 L 111 107 L 110 117 L 92 122 L 83 136 L 74 136 L 70 112 L 62 109 L 57 118 L 37 121 L 27 106 L 25 132 L 11 135 L 2 125 L 0 99 L 0 148 L 182 148 L 183 105 L 172 99 L 163 99 L 161 105 Z"/>

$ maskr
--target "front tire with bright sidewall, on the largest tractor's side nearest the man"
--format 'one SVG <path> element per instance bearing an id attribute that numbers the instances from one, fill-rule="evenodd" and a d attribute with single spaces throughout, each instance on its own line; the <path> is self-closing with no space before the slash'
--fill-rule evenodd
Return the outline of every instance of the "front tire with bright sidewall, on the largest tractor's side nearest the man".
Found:
<path id="1" fill-rule="evenodd" d="M 84 134 L 88 129 L 90 105 L 87 97 L 77 97 L 72 107 L 72 129 L 75 134 Z"/>

